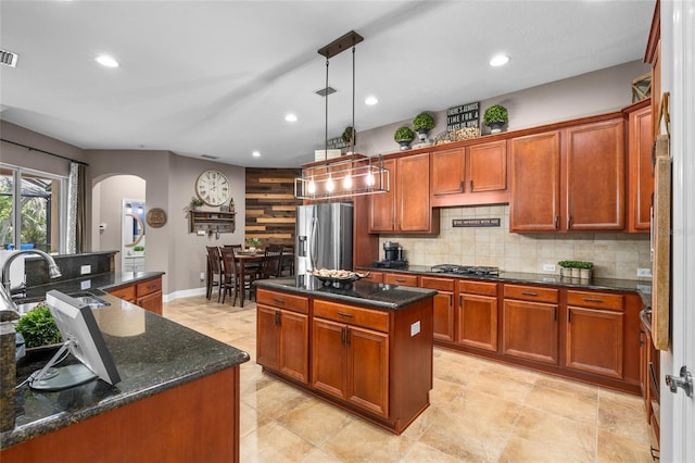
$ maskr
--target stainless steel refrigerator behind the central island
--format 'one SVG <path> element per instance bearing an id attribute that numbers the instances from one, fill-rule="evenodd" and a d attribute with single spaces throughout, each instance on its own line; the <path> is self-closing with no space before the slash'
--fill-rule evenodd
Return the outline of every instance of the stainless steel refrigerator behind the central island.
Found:
<path id="1" fill-rule="evenodd" d="M 296 274 L 316 268 L 352 270 L 352 203 L 298 205 Z"/>

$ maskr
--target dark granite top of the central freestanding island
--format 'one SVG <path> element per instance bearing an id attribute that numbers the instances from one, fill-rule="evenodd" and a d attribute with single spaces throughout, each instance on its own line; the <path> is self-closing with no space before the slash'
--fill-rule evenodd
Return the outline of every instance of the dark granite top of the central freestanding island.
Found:
<path id="1" fill-rule="evenodd" d="M 324 286 L 318 278 L 311 275 L 298 275 L 294 278 L 261 279 L 255 285 L 260 288 L 388 310 L 397 310 L 437 295 L 437 291 L 431 289 L 382 285 L 371 281 L 355 281 L 348 287 L 336 288 Z"/>

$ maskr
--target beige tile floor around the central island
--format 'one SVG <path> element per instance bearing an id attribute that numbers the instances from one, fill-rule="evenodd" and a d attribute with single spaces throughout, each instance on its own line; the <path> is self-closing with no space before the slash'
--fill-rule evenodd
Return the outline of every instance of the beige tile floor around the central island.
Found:
<path id="1" fill-rule="evenodd" d="M 262 373 L 255 303 L 204 296 L 164 316 L 242 349 L 242 462 L 650 462 L 636 396 L 434 348 L 430 408 L 401 436 Z"/>

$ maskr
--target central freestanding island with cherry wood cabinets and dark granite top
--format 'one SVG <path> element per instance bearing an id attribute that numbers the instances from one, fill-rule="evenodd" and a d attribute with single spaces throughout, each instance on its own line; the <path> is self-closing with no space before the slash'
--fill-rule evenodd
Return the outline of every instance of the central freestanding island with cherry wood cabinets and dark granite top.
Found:
<path id="1" fill-rule="evenodd" d="M 308 275 L 256 286 L 265 373 L 394 434 L 429 406 L 437 291 Z"/>

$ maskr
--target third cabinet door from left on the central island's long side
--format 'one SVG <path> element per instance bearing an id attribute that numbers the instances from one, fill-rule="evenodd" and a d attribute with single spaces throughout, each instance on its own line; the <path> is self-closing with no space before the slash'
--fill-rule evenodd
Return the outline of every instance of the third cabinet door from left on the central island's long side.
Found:
<path id="1" fill-rule="evenodd" d="M 314 317 L 312 324 L 312 386 L 346 399 L 345 325 Z"/>

